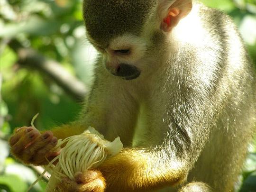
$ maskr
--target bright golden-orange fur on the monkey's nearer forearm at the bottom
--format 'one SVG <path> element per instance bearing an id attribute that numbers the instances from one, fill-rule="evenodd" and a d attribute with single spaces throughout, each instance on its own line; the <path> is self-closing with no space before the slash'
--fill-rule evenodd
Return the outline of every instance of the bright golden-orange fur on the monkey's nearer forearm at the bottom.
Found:
<path id="1" fill-rule="evenodd" d="M 185 179 L 181 163 L 166 165 L 163 162 L 142 150 L 124 149 L 107 159 L 98 169 L 106 179 L 109 192 L 146 192 L 175 185 Z"/>

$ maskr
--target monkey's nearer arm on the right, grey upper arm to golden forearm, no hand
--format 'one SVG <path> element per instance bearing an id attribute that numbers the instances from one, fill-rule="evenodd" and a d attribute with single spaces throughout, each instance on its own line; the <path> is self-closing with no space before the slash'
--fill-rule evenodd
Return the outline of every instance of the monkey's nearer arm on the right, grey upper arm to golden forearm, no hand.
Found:
<path id="1" fill-rule="evenodd" d="M 213 89 L 205 94 L 206 87 L 184 87 L 172 92 L 168 105 L 161 104 L 165 92 L 152 96 L 155 102 L 148 102 L 147 109 L 154 110 L 144 112 L 154 119 L 146 119 L 149 123 L 139 138 L 144 143 L 137 142 L 138 148 L 124 149 L 99 167 L 107 191 L 149 191 L 186 180 L 221 108 Z"/>

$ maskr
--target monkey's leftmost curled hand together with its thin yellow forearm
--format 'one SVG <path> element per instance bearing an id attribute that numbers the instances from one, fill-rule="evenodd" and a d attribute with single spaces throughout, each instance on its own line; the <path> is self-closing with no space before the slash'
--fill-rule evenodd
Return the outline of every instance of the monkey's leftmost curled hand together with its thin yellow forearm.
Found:
<path id="1" fill-rule="evenodd" d="M 63 125 L 45 132 L 34 127 L 17 128 L 9 139 L 10 151 L 24 164 L 46 165 L 48 160 L 59 154 L 51 151 L 56 146 L 57 139 L 81 134 L 86 128 L 81 124 Z"/>

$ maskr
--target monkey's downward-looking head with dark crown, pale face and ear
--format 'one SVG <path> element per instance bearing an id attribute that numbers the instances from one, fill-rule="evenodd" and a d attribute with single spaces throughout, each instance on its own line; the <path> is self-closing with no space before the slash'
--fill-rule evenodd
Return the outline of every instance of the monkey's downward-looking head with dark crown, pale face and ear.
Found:
<path id="1" fill-rule="evenodd" d="M 106 68 L 132 80 L 157 63 L 168 34 L 191 7 L 191 0 L 84 0 L 83 17 Z"/>

